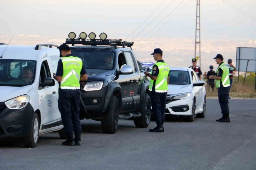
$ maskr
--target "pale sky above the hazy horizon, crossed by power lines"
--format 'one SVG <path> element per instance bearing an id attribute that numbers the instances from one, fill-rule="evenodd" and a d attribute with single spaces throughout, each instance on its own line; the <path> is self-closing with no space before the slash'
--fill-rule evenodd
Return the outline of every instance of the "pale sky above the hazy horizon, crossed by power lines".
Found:
<path id="1" fill-rule="evenodd" d="M 39 34 L 45 36 L 66 36 L 74 31 L 79 34 L 106 32 L 109 37 L 127 37 L 132 33 L 164 0 L 10 0 L 0 2 L 0 21 L 2 35 Z M 166 0 L 131 37 L 146 27 L 173 0 Z M 174 0 L 138 36 L 144 37 L 150 29 L 169 14 L 183 0 Z M 153 37 L 194 38 L 196 0 L 184 0 L 156 29 L 171 18 L 184 4 L 182 10 L 164 25 Z M 236 11 L 223 0 L 201 0 L 201 38 L 256 39 L 256 1 L 227 0 L 240 10 L 252 15 L 250 18 Z"/>

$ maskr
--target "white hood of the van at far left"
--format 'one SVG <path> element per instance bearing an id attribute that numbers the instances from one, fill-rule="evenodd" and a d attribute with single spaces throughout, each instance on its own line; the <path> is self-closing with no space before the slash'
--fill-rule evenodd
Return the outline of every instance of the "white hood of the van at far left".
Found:
<path id="1" fill-rule="evenodd" d="M 23 87 L 0 86 L 0 102 L 5 102 L 23 94 L 28 94 L 31 89 L 32 85 Z"/>

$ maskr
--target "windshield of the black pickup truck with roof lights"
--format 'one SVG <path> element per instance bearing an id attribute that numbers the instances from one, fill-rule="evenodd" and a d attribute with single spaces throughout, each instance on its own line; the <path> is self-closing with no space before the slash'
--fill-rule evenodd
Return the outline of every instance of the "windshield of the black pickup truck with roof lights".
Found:
<path id="1" fill-rule="evenodd" d="M 72 56 L 83 60 L 86 69 L 112 70 L 114 53 L 108 50 L 72 48 Z"/>

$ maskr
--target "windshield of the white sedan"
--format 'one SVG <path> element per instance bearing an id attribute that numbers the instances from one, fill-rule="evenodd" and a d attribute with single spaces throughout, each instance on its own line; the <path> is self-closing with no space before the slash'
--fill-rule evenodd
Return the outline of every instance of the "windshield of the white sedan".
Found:
<path id="1" fill-rule="evenodd" d="M 169 84 L 179 84 L 179 85 L 190 84 L 188 71 L 170 70 Z"/>

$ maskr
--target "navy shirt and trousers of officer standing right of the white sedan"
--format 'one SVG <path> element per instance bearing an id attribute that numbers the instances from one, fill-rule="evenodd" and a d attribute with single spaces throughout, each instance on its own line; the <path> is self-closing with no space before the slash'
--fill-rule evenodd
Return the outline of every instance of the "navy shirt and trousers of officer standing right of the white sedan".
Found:
<path id="1" fill-rule="evenodd" d="M 220 65 L 222 63 L 220 63 Z M 219 73 L 216 76 L 221 77 L 222 75 L 223 75 L 223 70 L 219 69 Z M 228 88 L 229 87 L 223 87 L 223 84 L 222 84 L 221 79 L 220 79 L 220 88 L 218 89 L 218 96 L 219 96 L 219 103 L 220 103 L 221 113 L 223 115 L 229 115 Z"/>

